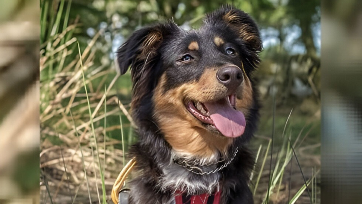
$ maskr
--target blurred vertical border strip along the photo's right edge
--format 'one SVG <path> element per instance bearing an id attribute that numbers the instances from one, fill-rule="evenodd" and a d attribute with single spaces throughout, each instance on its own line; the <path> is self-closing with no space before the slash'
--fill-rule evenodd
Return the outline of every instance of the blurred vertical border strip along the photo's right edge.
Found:
<path id="1" fill-rule="evenodd" d="M 323 0 L 321 203 L 362 203 L 362 2 Z"/>

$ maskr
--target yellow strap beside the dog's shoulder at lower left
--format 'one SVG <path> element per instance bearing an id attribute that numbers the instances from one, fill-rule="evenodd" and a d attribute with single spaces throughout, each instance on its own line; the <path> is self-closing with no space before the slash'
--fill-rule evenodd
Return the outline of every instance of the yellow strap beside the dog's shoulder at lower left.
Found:
<path id="1" fill-rule="evenodd" d="M 125 180 L 128 174 L 131 172 L 133 166 L 136 164 L 136 159 L 132 158 L 125 167 L 123 167 L 122 171 L 119 173 L 117 179 L 115 180 L 111 192 L 111 198 L 114 204 L 118 204 L 118 194 L 121 191 L 123 185 L 125 185 Z"/>

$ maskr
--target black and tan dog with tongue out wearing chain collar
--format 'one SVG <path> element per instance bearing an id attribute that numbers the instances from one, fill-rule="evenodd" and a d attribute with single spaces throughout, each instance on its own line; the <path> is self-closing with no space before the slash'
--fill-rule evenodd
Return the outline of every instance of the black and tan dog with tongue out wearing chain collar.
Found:
<path id="1" fill-rule="evenodd" d="M 121 74 L 131 69 L 138 176 L 129 204 L 250 204 L 260 64 L 254 20 L 230 5 L 197 30 L 173 21 L 136 30 L 118 48 Z"/>

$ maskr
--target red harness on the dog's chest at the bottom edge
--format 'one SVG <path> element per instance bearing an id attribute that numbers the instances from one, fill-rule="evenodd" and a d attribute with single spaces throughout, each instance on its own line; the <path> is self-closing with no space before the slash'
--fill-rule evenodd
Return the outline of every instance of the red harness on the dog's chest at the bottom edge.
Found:
<path id="1" fill-rule="evenodd" d="M 214 194 L 201 194 L 188 196 L 185 194 L 177 194 L 175 196 L 176 204 L 220 204 L 221 191 Z"/>

